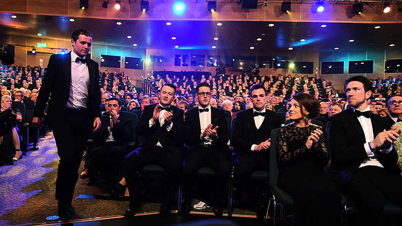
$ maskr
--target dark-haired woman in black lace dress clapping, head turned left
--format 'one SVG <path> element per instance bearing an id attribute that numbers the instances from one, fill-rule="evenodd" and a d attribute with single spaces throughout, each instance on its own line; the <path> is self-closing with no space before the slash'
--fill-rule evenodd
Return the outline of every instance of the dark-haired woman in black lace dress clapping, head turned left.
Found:
<path id="1" fill-rule="evenodd" d="M 340 225 L 340 195 L 324 173 L 330 159 L 326 136 L 321 126 L 309 120 L 319 109 L 313 96 L 293 95 L 288 112 L 294 122 L 278 133 L 278 183 L 293 196 L 296 225 Z"/>

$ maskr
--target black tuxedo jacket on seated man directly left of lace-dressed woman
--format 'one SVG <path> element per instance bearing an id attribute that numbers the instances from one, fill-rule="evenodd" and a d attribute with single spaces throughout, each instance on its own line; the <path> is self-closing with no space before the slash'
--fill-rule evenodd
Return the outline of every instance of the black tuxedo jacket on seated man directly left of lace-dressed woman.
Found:
<path id="1" fill-rule="evenodd" d="M 251 146 L 253 144 L 258 145 L 261 142 L 256 141 L 254 133 L 257 131 L 254 122 L 254 111 L 248 109 L 241 111 L 236 116 L 235 127 L 233 128 L 233 147 L 236 155 L 245 154 L 267 154 L 266 150 L 261 152 L 252 152 Z M 263 129 L 265 134 L 265 140 L 271 137 L 271 130 L 281 127 L 281 119 L 278 114 L 273 111 L 266 110 L 264 120 L 261 123 L 260 129 Z"/>

